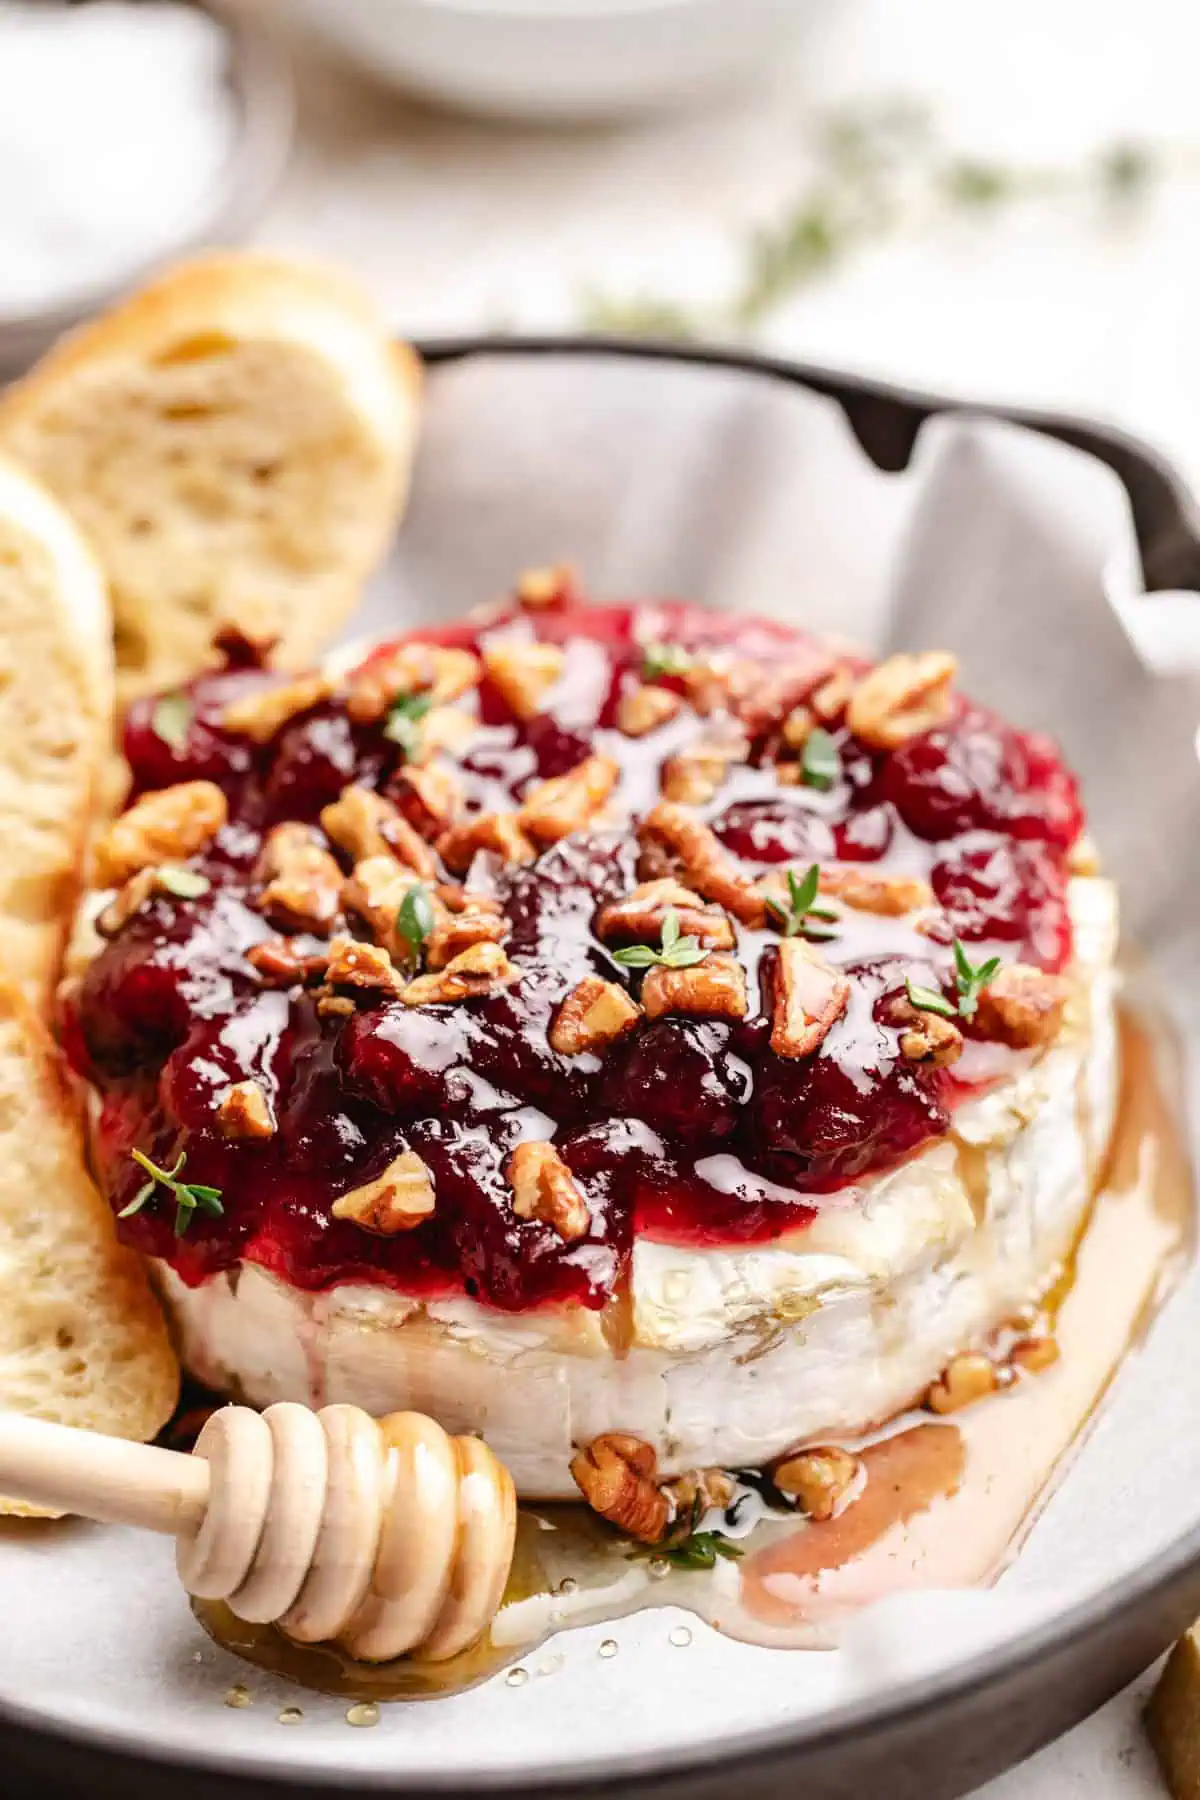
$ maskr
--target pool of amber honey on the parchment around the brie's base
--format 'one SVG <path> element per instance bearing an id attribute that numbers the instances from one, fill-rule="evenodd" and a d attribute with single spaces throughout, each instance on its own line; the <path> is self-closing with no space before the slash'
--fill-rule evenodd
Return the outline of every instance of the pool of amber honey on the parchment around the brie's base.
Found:
<path id="1" fill-rule="evenodd" d="M 1060 1361 L 950 1420 L 914 1413 L 892 1422 L 860 1445 L 867 1483 L 838 1517 L 801 1525 L 747 1490 L 729 1526 L 743 1561 L 664 1575 L 660 1562 L 631 1559 L 583 1507 L 524 1507 L 491 1633 L 444 1663 L 362 1665 L 333 1645 L 302 1647 L 268 1625 L 246 1625 L 223 1606 L 193 1602 L 196 1616 L 218 1643 L 261 1669 L 349 1701 L 392 1701 L 462 1692 L 563 1625 L 651 1606 L 684 1606 L 757 1643 L 815 1645 L 833 1642 L 840 1616 L 883 1593 L 993 1580 L 1191 1249 L 1191 1172 L 1160 1080 L 1162 1048 L 1159 1028 L 1151 1044 L 1144 1022 L 1123 1017 L 1114 1139 L 1087 1228 L 1042 1301 Z"/>

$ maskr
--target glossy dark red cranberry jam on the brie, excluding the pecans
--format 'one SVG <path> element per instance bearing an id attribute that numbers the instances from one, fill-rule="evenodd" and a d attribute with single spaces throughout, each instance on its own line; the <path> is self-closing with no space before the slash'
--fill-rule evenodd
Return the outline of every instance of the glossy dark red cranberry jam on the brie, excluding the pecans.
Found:
<path id="1" fill-rule="evenodd" d="M 223 729 L 223 709 L 281 677 L 239 668 L 194 684 L 182 734 L 160 734 L 151 702 L 131 713 L 135 796 L 210 779 L 225 790 L 228 824 L 187 864 L 207 877 L 207 893 L 157 895 L 104 945 L 67 1040 L 101 1094 L 97 1159 L 115 1208 L 144 1179 L 135 1147 L 162 1165 L 185 1150 L 187 1179 L 221 1190 L 223 1217 L 194 1217 L 185 1237 L 173 1233 L 166 1195 L 122 1224 L 189 1282 L 254 1260 L 308 1289 L 367 1280 L 502 1309 L 599 1307 L 619 1287 L 637 1231 L 720 1244 L 797 1229 L 815 1208 L 851 1202 L 858 1177 L 945 1132 L 970 1082 L 1004 1073 L 1009 1053 L 997 1046 L 977 1046 L 979 1060 L 970 1046 L 954 1078 L 905 1062 L 885 1022 L 905 977 L 950 986 L 954 936 L 979 959 L 1069 961 L 1067 853 L 1081 814 L 1047 740 L 961 698 L 945 725 L 894 752 L 833 725 L 840 776 L 820 790 L 779 779 L 777 763 L 795 763 L 779 707 L 802 700 L 835 659 L 784 626 L 655 605 L 518 612 L 421 634 L 473 648 L 506 635 L 561 644 L 565 670 L 547 709 L 525 724 L 486 679 L 455 702 L 479 722 L 455 758 L 468 808 L 520 806 L 536 781 L 594 751 L 615 758 L 621 779 L 592 830 L 529 866 L 488 871 L 520 979 L 486 999 L 408 1008 L 371 992 L 353 1013 L 322 1017 L 309 990 L 264 988 L 246 961 L 277 936 L 255 905 L 264 833 L 288 819 L 317 824 L 349 783 L 394 794 L 403 751 L 380 725 L 351 724 L 335 697 L 254 743 Z M 851 999 L 811 1057 L 770 1049 L 779 931 L 741 925 L 743 1021 L 660 1017 L 603 1057 L 549 1046 L 558 1004 L 585 976 L 637 992 L 640 974 L 612 959 L 596 913 L 662 873 L 646 868 L 637 819 L 658 799 L 664 761 L 712 733 L 714 720 L 691 706 L 640 738 L 615 729 L 642 646 L 664 641 L 748 659 L 770 677 L 775 711 L 761 691 L 739 702 L 748 760 L 696 808 L 745 873 L 844 860 L 919 875 L 934 889 L 919 932 L 912 918 L 838 909 L 820 949 L 849 976 Z M 662 684 L 684 691 L 676 677 Z M 272 1096 L 279 1129 L 266 1141 L 221 1136 L 219 1098 L 245 1078 Z M 504 1168 L 527 1138 L 552 1138 L 585 1190 L 585 1238 L 563 1242 L 515 1215 Z M 394 1237 L 331 1219 L 340 1193 L 407 1148 L 434 1175 L 434 1217 Z"/>

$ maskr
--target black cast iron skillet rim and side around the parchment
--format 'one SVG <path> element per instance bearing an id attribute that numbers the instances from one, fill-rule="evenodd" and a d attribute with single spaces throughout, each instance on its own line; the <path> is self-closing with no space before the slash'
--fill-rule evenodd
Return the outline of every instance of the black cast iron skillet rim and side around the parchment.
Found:
<path id="1" fill-rule="evenodd" d="M 428 364 L 489 355 L 603 355 L 743 371 L 808 387 L 835 400 L 865 454 L 882 470 L 907 466 L 928 418 L 964 412 L 1000 418 L 1085 450 L 1112 468 L 1133 511 L 1148 590 L 1200 590 L 1200 508 L 1171 464 L 1126 432 L 1069 414 L 975 405 L 910 392 L 837 371 L 734 349 L 680 349 L 621 338 L 443 338 L 421 346 Z M 0 1701 L 0 1800 L 347 1800 L 403 1793 L 407 1800 L 522 1795 L 536 1800 L 957 1800 L 1061 1735 L 1117 1694 L 1200 1615 L 1200 1525 L 1151 1562 L 1065 1616 L 887 1699 L 853 1705 L 815 1724 L 781 1726 L 667 1762 L 642 1759 L 572 1764 L 549 1778 L 419 1784 L 403 1766 L 320 1786 L 295 1777 L 237 1775 L 144 1760 L 106 1744 L 103 1733 L 56 1735 Z M 0 1631 L 4 1629 L 0 1616 Z M 68 1670 L 65 1670 L 68 1679 Z M 619 1746 L 613 1746 L 619 1748 Z"/>

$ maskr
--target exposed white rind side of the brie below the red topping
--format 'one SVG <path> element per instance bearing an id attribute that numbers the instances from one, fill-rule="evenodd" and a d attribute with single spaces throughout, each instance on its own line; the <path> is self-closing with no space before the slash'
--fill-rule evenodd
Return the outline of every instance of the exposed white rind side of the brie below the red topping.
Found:
<path id="1" fill-rule="evenodd" d="M 482 1431 L 542 1499 L 576 1494 L 572 1449 L 601 1431 L 653 1444 L 671 1474 L 752 1467 L 889 1418 L 1047 1291 L 1087 1215 L 1119 1078 L 1112 886 L 1072 880 L 1070 916 L 1072 1001 L 1047 1051 L 961 1105 L 948 1138 L 824 1197 L 802 1231 L 730 1249 L 640 1237 L 628 1348 L 578 1305 L 309 1294 L 252 1264 L 185 1287 L 162 1264 L 185 1364 L 257 1406 L 416 1408 Z M 757 1179 L 711 1163 L 720 1181 Z"/>

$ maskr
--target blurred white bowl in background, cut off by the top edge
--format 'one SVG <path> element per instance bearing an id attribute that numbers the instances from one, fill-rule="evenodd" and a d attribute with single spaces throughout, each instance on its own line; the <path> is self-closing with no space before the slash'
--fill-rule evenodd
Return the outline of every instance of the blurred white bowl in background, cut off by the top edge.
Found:
<path id="1" fill-rule="evenodd" d="M 779 54 L 813 0 L 295 0 L 372 76 L 497 117 L 698 101 Z"/>

